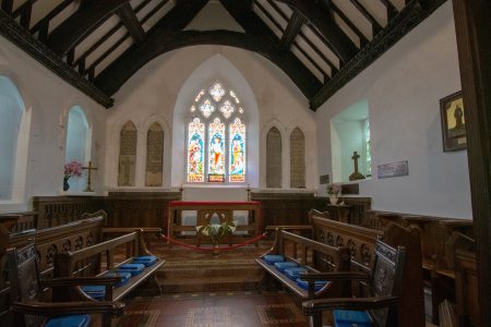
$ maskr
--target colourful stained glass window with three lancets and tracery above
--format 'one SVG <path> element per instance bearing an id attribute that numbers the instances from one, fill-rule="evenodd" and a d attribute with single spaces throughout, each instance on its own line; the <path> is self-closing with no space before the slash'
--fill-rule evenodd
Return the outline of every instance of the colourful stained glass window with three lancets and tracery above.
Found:
<path id="1" fill-rule="evenodd" d="M 246 181 L 246 123 L 236 93 L 215 82 L 190 105 L 187 181 Z"/>

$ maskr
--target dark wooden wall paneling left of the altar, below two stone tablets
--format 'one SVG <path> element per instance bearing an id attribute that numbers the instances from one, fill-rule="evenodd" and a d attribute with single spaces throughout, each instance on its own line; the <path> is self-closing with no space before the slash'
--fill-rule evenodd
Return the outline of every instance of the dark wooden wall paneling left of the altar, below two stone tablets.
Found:
<path id="1" fill-rule="evenodd" d="M 168 203 L 181 198 L 180 192 L 109 192 L 108 226 L 160 227 L 167 232 Z"/>

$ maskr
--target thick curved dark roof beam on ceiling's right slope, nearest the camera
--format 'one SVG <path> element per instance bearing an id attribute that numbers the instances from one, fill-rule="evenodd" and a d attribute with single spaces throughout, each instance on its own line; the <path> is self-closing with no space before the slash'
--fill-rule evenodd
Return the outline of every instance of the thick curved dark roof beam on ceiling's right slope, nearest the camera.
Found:
<path id="1" fill-rule="evenodd" d="M 306 0 L 278 0 L 298 10 L 324 35 L 326 41 L 342 62 L 348 62 L 358 52 L 355 44 L 336 25 L 330 12 L 323 5 Z"/>

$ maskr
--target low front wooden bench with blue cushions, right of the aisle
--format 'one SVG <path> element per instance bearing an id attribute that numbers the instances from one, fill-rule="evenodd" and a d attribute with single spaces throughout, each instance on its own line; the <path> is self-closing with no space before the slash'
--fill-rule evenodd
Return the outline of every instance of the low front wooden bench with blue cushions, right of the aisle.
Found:
<path id="1" fill-rule="evenodd" d="M 284 272 L 279 271 L 274 265 L 270 265 L 264 257 L 266 255 L 283 255 L 285 261 L 296 262 L 299 266 L 307 268 L 309 275 L 307 290 L 297 284 L 296 280 L 291 280 Z M 314 299 L 330 294 L 340 295 L 346 291 L 345 286 L 338 282 L 328 282 L 321 289 L 315 291 L 315 280 L 322 280 L 324 271 L 343 271 L 349 269 L 349 249 L 335 247 L 313 241 L 301 235 L 277 229 L 275 243 L 273 247 L 256 258 L 255 262 L 272 277 L 278 280 L 287 289 L 302 299 Z M 314 276 L 319 275 L 319 279 Z"/>

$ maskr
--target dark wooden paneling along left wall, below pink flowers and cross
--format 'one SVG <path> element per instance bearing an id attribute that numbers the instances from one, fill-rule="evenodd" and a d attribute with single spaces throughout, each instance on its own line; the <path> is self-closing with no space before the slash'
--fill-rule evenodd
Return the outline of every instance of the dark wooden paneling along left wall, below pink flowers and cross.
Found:
<path id="1" fill-rule="evenodd" d="M 101 196 L 34 196 L 34 210 L 38 213 L 37 229 L 56 227 L 81 219 L 84 213 L 104 209 Z"/>

